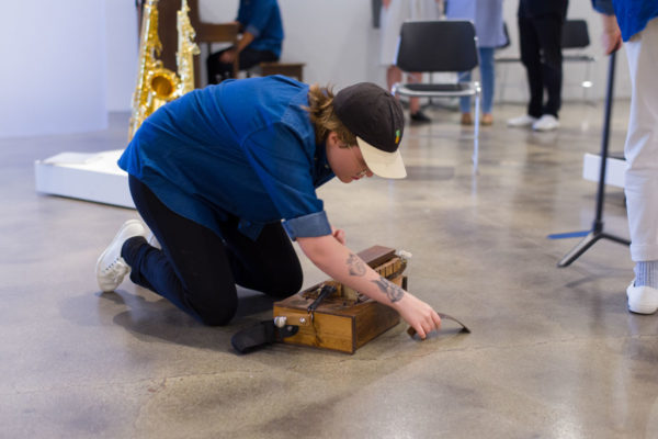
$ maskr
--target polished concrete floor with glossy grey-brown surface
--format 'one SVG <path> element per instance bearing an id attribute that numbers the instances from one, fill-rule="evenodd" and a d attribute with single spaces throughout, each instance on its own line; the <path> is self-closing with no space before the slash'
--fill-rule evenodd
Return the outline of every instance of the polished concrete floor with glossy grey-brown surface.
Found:
<path id="1" fill-rule="evenodd" d="M 480 171 L 458 114 L 409 127 L 409 178 L 319 190 L 361 250 L 413 254 L 409 288 L 473 334 L 423 342 L 398 325 L 355 354 L 277 345 L 232 351 L 271 302 L 241 292 L 228 327 L 203 327 L 124 282 L 100 294 L 94 262 L 135 212 L 37 194 L 33 161 L 123 146 L 125 114 L 101 133 L 0 140 L 2 438 L 656 438 L 658 316 L 626 309 L 625 246 L 602 240 L 557 261 L 594 216 L 582 156 L 599 150 L 601 104 L 565 103 L 555 133 L 508 130 L 495 109 Z M 614 112 L 623 145 L 627 103 Z M 627 237 L 609 188 L 605 229 Z M 325 275 L 303 259 L 310 285 Z"/>

